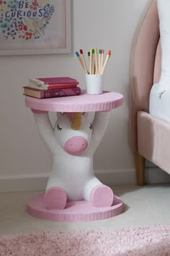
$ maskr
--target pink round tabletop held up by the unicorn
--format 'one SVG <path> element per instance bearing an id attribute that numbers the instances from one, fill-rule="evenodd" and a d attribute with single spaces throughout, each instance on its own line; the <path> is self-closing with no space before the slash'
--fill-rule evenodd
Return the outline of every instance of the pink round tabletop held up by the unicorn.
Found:
<path id="1" fill-rule="evenodd" d="M 81 90 L 81 95 L 61 98 L 38 99 L 25 97 L 27 107 L 40 111 L 54 112 L 92 112 L 111 111 L 122 105 L 123 95 L 104 91 L 99 95 L 86 94 L 86 90 Z"/>

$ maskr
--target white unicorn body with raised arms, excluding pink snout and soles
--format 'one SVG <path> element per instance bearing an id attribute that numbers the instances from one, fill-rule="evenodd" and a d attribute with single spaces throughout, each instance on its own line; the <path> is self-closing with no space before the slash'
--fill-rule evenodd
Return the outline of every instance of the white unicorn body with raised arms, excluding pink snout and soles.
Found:
<path id="1" fill-rule="evenodd" d="M 71 121 L 66 114 L 58 114 L 53 129 L 48 114 L 35 114 L 35 123 L 42 139 L 53 153 L 53 168 L 46 189 L 61 187 L 68 200 L 87 200 L 91 189 L 102 184 L 94 176 L 93 155 L 102 140 L 109 121 L 109 112 L 97 112 L 92 129 L 88 114 L 81 116 L 79 130 L 71 129 Z M 58 130 L 58 126 L 61 130 Z M 82 136 L 88 141 L 88 148 L 81 155 L 71 155 L 63 150 L 63 145 L 73 136 Z"/>

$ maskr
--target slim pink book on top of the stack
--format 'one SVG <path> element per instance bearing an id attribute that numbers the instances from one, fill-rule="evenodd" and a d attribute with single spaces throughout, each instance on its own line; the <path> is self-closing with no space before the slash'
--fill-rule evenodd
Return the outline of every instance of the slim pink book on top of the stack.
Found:
<path id="1" fill-rule="evenodd" d="M 53 85 L 53 84 L 72 84 L 76 83 L 76 85 L 79 84 L 79 82 L 76 79 L 73 79 L 71 77 L 45 77 L 45 78 L 36 78 L 36 80 L 40 80 L 41 82 L 44 82 L 45 85 Z"/>

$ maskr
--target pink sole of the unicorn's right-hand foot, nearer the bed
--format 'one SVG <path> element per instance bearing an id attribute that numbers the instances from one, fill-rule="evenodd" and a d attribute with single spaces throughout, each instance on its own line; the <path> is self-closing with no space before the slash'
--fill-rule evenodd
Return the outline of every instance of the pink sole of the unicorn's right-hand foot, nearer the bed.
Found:
<path id="1" fill-rule="evenodd" d="M 90 202 L 97 208 L 112 206 L 114 194 L 112 189 L 105 185 L 97 185 L 91 190 Z"/>

